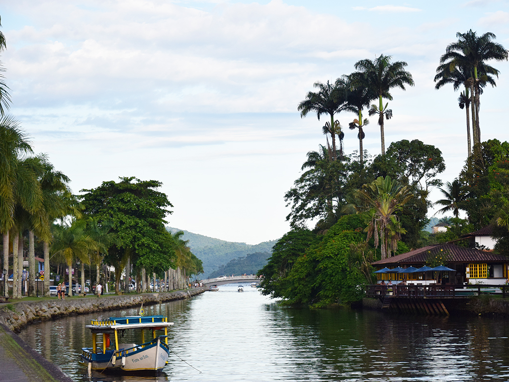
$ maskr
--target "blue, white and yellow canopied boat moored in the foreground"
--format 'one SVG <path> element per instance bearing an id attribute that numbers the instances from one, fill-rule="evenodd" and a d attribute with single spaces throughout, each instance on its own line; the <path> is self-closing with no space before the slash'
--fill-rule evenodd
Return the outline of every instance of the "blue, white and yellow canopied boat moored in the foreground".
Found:
<path id="1" fill-rule="evenodd" d="M 101 373 L 157 374 L 169 356 L 168 322 L 164 316 L 110 317 L 92 320 L 92 347 L 81 348 L 81 362 Z M 128 331 L 141 332 L 142 344 L 120 343 Z M 146 331 L 150 339 L 146 341 Z M 158 335 L 158 332 L 164 335 Z M 139 333 L 138 333 L 139 334 Z"/>

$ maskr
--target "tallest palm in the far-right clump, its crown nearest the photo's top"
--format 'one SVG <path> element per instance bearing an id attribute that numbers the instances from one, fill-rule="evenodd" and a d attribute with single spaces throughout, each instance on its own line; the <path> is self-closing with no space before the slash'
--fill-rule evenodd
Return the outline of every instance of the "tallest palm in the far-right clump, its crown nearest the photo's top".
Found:
<path id="1" fill-rule="evenodd" d="M 469 86 L 472 92 L 471 105 L 474 109 L 475 121 L 472 119 L 474 147 L 480 143 L 480 125 L 479 125 L 479 106 L 480 106 L 480 88 L 486 82 L 489 82 L 489 75 L 496 75 L 499 71 L 488 65 L 489 60 L 503 61 L 508 59 L 507 50 L 492 40 L 496 36 L 487 32 L 482 36 L 477 36 L 476 32 L 469 30 L 467 33 L 456 34 L 457 42 L 453 42 L 445 48 L 445 53 L 440 57 L 440 64 L 449 66 L 449 71 L 453 72 L 456 68 L 467 68 L 471 72 Z M 494 81 L 491 82 L 495 86 Z"/>

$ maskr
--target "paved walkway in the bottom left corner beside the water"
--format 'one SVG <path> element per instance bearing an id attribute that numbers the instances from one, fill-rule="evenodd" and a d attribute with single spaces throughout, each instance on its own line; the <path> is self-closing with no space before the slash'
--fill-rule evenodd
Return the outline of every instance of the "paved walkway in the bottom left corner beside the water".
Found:
<path id="1" fill-rule="evenodd" d="M 59 367 L 46 361 L 17 334 L 0 324 L 0 381 L 72 382 Z"/>

